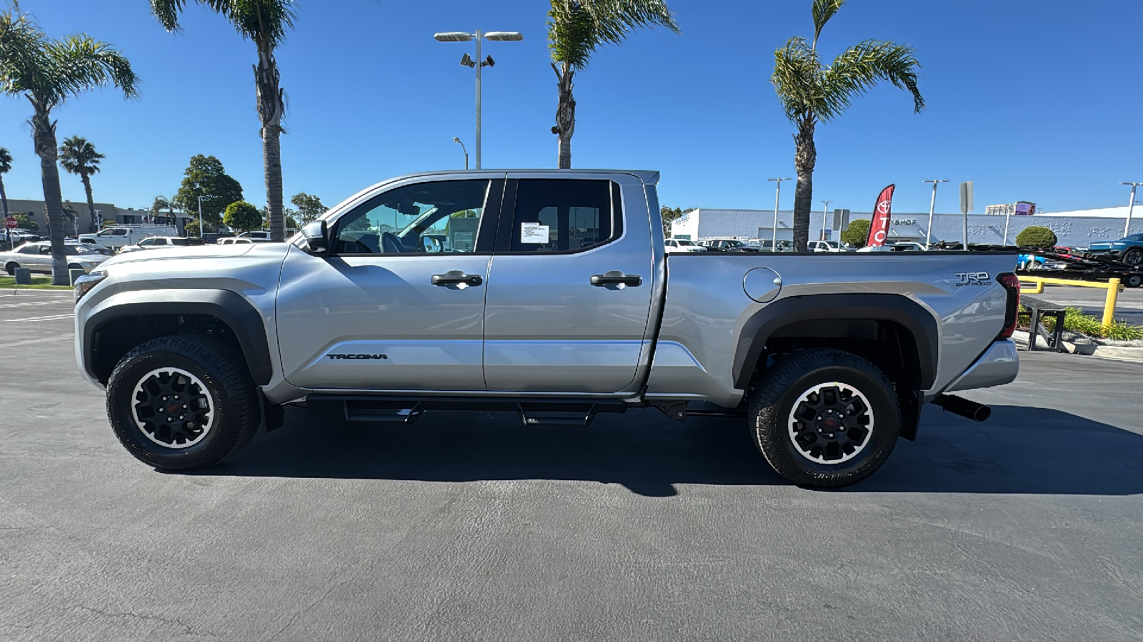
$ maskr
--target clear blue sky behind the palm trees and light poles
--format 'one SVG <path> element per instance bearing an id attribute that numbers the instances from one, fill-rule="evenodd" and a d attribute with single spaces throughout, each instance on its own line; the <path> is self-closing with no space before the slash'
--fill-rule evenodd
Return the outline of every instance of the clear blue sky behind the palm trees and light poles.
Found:
<path id="1" fill-rule="evenodd" d="M 282 137 L 286 198 L 331 206 L 381 179 L 463 167 L 473 151 L 471 43 L 438 31 L 520 31 L 493 42 L 483 77 L 483 166 L 554 167 L 555 77 L 542 0 L 298 0 L 296 30 L 279 50 L 288 95 Z M 657 169 L 661 201 L 678 207 L 773 208 L 767 177 L 794 176 L 792 127 L 774 96 L 774 50 L 812 35 L 809 0 L 673 0 L 681 35 L 637 32 L 597 53 L 576 78 L 573 167 Z M 146 0 L 23 0 L 53 37 L 86 32 L 121 49 L 142 96 L 101 89 L 55 115 L 107 155 L 97 201 L 146 207 L 173 194 L 193 154 L 218 157 L 265 203 L 254 106 L 254 46 L 192 5 L 183 32 L 166 33 Z M 869 210 L 897 184 L 896 211 L 927 211 L 926 178 L 946 178 L 938 211 L 956 211 L 956 184 L 975 180 L 976 210 L 1031 200 L 1041 210 L 1127 204 L 1122 180 L 1143 180 L 1141 49 L 1129 25 L 1143 3 L 1031 0 L 852 0 L 820 42 L 828 57 L 866 38 L 910 43 L 924 65 L 928 109 L 913 114 L 892 87 L 860 98 L 817 129 L 814 209 Z M 0 99 L 0 146 L 15 157 L 9 198 L 41 199 L 26 101 Z M 64 198 L 82 201 L 77 177 Z M 782 193 L 793 204 L 792 183 Z"/>

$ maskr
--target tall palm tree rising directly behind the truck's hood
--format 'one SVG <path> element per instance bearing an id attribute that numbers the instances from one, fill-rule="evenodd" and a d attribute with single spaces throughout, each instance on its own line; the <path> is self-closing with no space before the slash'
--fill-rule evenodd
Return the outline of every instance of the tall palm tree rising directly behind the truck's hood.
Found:
<path id="1" fill-rule="evenodd" d="M 178 31 L 178 14 L 187 0 L 151 0 L 151 11 L 167 31 Z M 279 137 L 285 133 L 281 121 L 286 112 L 283 90 L 278 86 L 278 61 L 274 49 L 294 27 L 294 0 L 195 0 L 230 21 L 243 39 L 250 39 L 258 50 L 254 66 L 258 118 L 262 121 L 262 160 L 266 178 L 266 207 L 270 211 L 270 239 L 285 239 L 282 211 L 282 161 Z"/>

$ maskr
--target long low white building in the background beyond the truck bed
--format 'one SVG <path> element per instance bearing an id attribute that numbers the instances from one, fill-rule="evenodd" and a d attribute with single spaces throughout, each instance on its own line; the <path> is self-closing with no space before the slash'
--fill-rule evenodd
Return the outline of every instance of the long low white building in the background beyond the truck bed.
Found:
<path id="1" fill-rule="evenodd" d="M 992 211 L 1005 211 L 1005 208 L 990 206 Z M 1009 208 L 1015 211 L 1015 208 Z M 1033 210 L 1034 211 L 1034 210 Z M 809 238 L 822 238 L 824 226 L 825 239 L 838 239 L 839 231 L 833 230 L 833 212 L 824 216 L 822 211 L 810 212 Z M 849 220 L 871 219 L 872 212 L 854 211 Z M 928 212 L 893 214 L 889 226 L 889 241 L 925 242 L 928 232 Z M 1058 244 L 1068 247 L 1087 247 L 1096 241 L 1119 239 L 1124 234 L 1124 223 L 1127 218 L 1127 207 L 1103 209 L 1086 209 L 1033 215 L 1005 216 L 1002 214 L 969 214 L 968 242 L 984 244 L 1002 244 L 1005 241 L 1005 224 L 1008 225 L 1008 244 L 1015 242 L 1016 234 L 1025 227 L 1039 225 L 1055 232 Z M 791 240 L 793 212 L 778 210 L 777 238 Z M 933 216 L 932 240 L 960 242 L 962 217 L 959 214 L 937 214 Z M 671 223 L 671 235 L 676 239 L 693 241 L 711 238 L 735 239 L 769 239 L 774 228 L 774 210 L 760 209 L 694 209 Z M 1143 232 L 1143 207 L 1133 212 L 1132 234 Z"/>

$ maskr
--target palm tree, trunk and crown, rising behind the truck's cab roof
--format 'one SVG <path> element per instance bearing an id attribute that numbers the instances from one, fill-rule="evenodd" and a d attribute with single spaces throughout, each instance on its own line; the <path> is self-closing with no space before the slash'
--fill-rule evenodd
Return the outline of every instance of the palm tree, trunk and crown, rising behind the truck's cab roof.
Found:
<path id="1" fill-rule="evenodd" d="M 662 25 L 679 33 L 664 0 L 551 0 L 547 11 L 547 48 L 559 81 L 559 106 L 552 134 L 560 137 L 559 168 L 572 167 L 575 133 L 573 79 L 591 61 L 600 45 L 620 45 L 628 33 Z"/>

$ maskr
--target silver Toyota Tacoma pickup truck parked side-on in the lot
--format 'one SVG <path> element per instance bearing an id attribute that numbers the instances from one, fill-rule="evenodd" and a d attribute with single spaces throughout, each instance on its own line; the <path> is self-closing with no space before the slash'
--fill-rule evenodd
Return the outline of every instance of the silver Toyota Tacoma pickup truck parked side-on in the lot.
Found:
<path id="1" fill-rule="evenodd" d="M 75 286 L 80 370 L 122 444 L 210 466 L 283 406 L 411 423 L 745 417 L 785 479 L 873 473 L 921 406 L 1018 368 L 1016 257 L 664 251 L 655 171 L 405 176 L 288 243 L 120 256 Z"/>

